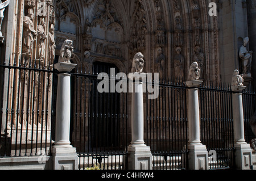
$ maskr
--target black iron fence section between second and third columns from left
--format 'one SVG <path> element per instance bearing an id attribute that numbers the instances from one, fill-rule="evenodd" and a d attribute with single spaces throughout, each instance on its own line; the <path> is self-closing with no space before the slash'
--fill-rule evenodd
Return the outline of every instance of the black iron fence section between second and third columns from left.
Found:
<path id="1" fill-rule="evenodd" d="M 154 83 L 152 83 L 154 85 Z M 159 83 L 158 99 L 146 96 L 146 144 L 153 169 L 187 169 L 187 93 L 183 80 Z"/>

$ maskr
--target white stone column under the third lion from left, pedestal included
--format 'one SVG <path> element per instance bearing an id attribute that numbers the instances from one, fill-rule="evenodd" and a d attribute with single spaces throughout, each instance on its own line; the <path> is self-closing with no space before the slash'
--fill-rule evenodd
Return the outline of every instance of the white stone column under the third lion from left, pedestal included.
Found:
<path id="1" fill-rule="evenodd" d="M 188 86 L 188 167 L 189 170 L 208 170 L 208 151 L 200 141 L 198 87 L 203 81 L 187 81 Z"/>

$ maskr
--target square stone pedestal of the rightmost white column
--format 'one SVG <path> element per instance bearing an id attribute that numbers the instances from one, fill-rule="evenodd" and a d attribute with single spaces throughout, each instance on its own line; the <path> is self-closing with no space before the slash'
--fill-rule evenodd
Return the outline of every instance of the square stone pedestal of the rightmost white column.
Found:
<path id="1" fill-rule="evenodd" d="M 236 158 L 236 169 L 238 170 L 250 170 L 253 165 L 252 154 L 253 150 L 250 144 L 235 144 L 235 158 Z"/>

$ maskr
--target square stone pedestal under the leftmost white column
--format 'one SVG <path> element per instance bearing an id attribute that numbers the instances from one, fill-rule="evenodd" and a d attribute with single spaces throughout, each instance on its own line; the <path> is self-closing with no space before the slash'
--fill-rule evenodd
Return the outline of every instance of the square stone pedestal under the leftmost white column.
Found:
<path id="1" fill-rule="evenodd" d="M 76 149 L 72 147 L 53 146 L 53 170 L 78 170 Z"/>

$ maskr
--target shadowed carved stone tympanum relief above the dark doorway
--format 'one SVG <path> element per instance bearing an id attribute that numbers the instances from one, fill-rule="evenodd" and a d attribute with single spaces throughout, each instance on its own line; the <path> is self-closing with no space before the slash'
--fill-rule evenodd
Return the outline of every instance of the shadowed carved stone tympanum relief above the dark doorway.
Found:
<path id="1" fill-rule="evenodd" d="M 123 28 L 111 1 L 98 2 L 92 23 L 86 20 L 84 50 L 92 53 L 122 57 Z"/>

